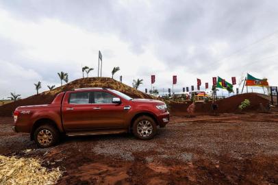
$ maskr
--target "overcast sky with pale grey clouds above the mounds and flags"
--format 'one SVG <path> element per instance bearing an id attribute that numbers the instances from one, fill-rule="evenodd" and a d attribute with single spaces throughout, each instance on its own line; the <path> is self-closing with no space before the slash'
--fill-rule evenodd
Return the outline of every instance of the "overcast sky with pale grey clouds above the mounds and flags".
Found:
<path id="1" fill-rule="evenodd" d="M 59 86 L 58 72 L 82 77 L 81 66 L 131 86 L 175 91 L 212 77 L 242 74 L 277 86 L 278 2 L 273 1 L 0 1 L 0 99 L 34 95 L 34 83 Z"/>

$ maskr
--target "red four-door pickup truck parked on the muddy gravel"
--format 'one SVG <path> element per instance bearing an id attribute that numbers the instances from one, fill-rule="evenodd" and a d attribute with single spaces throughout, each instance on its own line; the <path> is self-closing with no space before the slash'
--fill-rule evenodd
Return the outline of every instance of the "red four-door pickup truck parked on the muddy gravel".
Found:
<path id="1" fill-rule="evenodd" d="M 169 112 L 163 101 L 132 99 L 107 88 L 79 88 L 60 93 L 49 105 L 21 106 L 14 111 L 14 132 L 27 132 L 38 147 L 60 136 L 132 132 L 150 139 L 164 127 Z"/>

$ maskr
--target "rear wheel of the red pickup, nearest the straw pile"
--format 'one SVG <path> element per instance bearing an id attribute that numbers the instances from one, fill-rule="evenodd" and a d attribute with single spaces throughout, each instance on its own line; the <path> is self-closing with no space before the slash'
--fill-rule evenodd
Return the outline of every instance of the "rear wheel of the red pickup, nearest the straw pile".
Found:
<path id="1" fill-rule="evenodd" d="M 35 143 L 40 148 L 51 147 L 57 144 L 59 139 L 60 134 L 52 125 L 40 125 L 34 132 Z"/>

